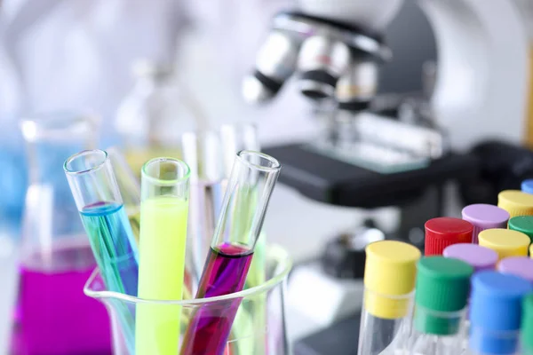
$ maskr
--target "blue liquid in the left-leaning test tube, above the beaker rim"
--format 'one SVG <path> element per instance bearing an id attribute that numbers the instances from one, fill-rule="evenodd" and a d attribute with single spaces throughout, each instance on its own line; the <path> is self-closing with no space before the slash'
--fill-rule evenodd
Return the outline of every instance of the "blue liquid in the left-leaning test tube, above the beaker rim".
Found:
<path id="1" fill-rule="evenodd" d="M 107 289 L 137 296 L 139 252 L 123 205 L 98 202 L 80 215 Z"/>

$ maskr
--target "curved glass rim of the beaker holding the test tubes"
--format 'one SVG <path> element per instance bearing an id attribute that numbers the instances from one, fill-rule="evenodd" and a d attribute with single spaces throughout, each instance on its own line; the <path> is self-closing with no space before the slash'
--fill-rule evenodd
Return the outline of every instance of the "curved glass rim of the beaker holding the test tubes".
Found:
<path id="1" fill-rule="evenodd" d="M 92 298 L 101 298 L 101 299 L 117 299 L 123 302 L 130 304 L 166 304 L 166 305 L 180 305 L 180 306 L 197 306 L 201 304 L 214 304 L 221 301 L 228 301 L 235 298 L 247 298 L 251 296 L 256 296 L 267 292 L 268 290 L 278 286 L 284 280 L 286 280 L 289 275 L 290 270 L 292 269 L 292 260 L 290 259 L 289 253 L 279 245 L 270 244 L 267 246 L 267 258 L 274 260 L 277 264 L 276 272 L 274 276 L 269 278 L 267 281 L 262 284 L 255 286 L 253 288 L 246 288 L 243 291 L 235 292 L 233 294 L 224 295 L 224 296 L 215 296 L 209 298 L 194 298 L 189 300 L 180 300 L 180 301 L 167 301 L 167 300 L 152 300 L 139 298 L 136 296 L 124 295 L 119 292 L 114 291 L 95 291 L 91 289 L 91 284 L 94 282 L 96 277 L 99 275 L 99 269 L 96 268 L 89 277 L 89 280 L 85 282 L 84 294 Z M 282 266 L 282 270 L 277 271 L 277 268 Z"/>

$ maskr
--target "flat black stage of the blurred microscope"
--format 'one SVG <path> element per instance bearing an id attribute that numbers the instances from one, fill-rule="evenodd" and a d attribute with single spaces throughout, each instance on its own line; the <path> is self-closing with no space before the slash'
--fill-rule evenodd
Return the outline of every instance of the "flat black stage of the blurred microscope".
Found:
<path id="1" fill-rule="evenodd" d="M 264 149 L 282 164 L 279 181 L 306 197 L 338 206 L 373 209 L 402 206 L 431 186 L 473 180 L 479 160 L 447 154 L 426 168 L 382 174 L 309 150 L 303 144 Z"/>

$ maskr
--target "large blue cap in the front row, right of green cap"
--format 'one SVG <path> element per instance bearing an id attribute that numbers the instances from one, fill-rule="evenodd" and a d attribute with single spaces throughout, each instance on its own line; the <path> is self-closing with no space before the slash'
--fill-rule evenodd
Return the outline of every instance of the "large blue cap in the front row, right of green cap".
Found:
<path id="1" fill-rule="evenodd" d="M 472 278 L 469 347 L 478 353 L 515 353 L 522 298 L 532 288 L 527 280 L 515 275 L 477 272 Z"/>

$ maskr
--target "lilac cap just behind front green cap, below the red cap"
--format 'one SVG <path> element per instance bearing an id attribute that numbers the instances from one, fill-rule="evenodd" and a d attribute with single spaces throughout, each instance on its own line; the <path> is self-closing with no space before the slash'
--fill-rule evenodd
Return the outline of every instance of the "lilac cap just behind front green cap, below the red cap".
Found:
<path id="1" fill-rule="evenodd" d="M 494 270 L 498 258 L 496 251 L 469 243 L 450 245 L 444 249 L 442 255 L 463 260 L 466 264 L 472 266 L 475 272 Z"/>

